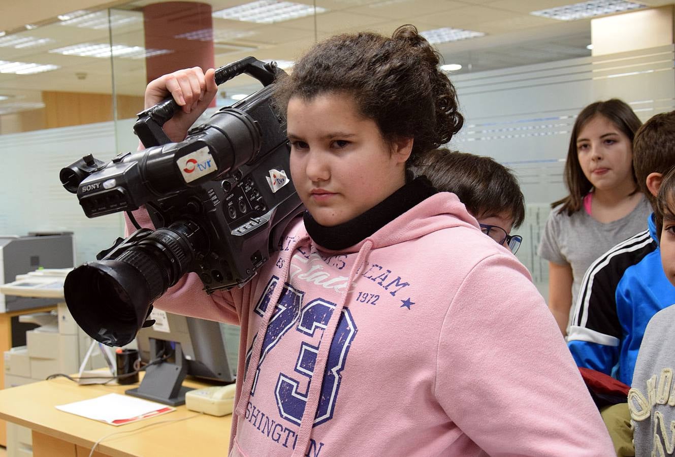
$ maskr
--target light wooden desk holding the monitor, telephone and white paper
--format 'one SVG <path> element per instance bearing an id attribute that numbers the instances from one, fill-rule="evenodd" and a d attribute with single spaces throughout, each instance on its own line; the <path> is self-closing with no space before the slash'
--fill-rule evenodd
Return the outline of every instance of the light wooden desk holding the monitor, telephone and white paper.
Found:
<path id="1" fill-rule="evenodd" d="M 189 387 L 200 383 L 185 381 Z M 175 411 L 115 427 L 63 412 L 56 405 L 105 394 L 122 394 L 134 385 L 78 385 L 65 378 L 0 390 L 0 418 L 32 429 L 34 457 L 87 457 L 99 439 L 153 423 L 196 416 L 185 421 L 119 433 L 104 439 L 94 457 L 224 456 L 229 446 L 232 415 L 215 417 L 179 406 Z"/>

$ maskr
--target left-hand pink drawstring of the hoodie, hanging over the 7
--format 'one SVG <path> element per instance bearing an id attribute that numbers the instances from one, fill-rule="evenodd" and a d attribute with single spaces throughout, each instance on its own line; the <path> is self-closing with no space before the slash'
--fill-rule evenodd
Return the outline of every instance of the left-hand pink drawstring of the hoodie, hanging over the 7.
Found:
<path id="1" fill-rule="evenodd" d="M 290 270 L 291 261 L 295 250 L 303 241 L 308 240 L 308 236 L 304 236 L 292 242 L 288 248 L 288 256 L 284 259 L 284 266 L 281 267 L 281 272 L 279 273 L 279 281 L 274 288 L 274 292 L 267 304 L 267 309 L 263 315 L 263 321 L 260 323 L 258 328 L 258 333 L 256 334 L 255 341 L 253 343 L 253 348 L 251 349 L 251 358 L 248 362 L 248 369 L 246 370 L 246 375 L 244 375 L 244 383 L 242 384 L 241 397 L 237 404 L 237 408 L 234 411 L 238 416 L 244 416 L 246 414 L 246 406 L 248 406 L 248 400 L 251 396 L 251 387 L 253 387 L 253 380 L 255 378 L 255 371 L 258 369 L 258 363 L 260 362 L 261 351 L 263 349 L 263 340 L 265 340 L 265 333 L 267 333 L 267 327 L 269 321 L 274 314 L 274 310 L 277 307 L 277 302 L 281 297 L 281 292 L 284 290 L 284 284 L 286 284 L 286 279 L 288 279 L 288 271 Z M 240 348 L 240 350 L 242 350 Z M 236 420 L 236 419 L 235 419 Z"/>

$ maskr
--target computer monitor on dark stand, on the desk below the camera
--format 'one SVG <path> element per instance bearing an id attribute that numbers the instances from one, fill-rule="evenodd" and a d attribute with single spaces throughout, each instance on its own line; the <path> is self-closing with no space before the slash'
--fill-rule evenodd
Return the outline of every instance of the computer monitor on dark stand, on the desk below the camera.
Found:
<path id="1" fill-rule="evenodd" d="M 136 335 L 146 369 L 142 382 L 127 394 L 171 406 L 184 404 L 190 390 L 182 382 L 187 375 L 232 383 L 237 375 L 238 325 L 153 310 L 155 325 Z"/>

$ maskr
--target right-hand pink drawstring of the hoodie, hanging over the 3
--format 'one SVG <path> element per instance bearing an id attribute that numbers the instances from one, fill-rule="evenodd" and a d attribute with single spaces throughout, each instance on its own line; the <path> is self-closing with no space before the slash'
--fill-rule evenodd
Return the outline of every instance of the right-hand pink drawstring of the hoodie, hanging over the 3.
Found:
<path id="1" fill-rule="evenodd" d="M 317 408 L 319 407 L 319 396 L 321 395 L 321 387 L 323 387 L 323 372 L 326 369 L 326 363 L 328 361 L 331 343 L 333 342 L 333 336 L 335 336 L 335 330 L 338 329 L 338 321 L 340 321 L 342 309 L 344 308 L 347 298 L 351 292 L 354 277 L 356 277 L 358 270 L 365 262 L 365 259 L 368 256 L 368 253 L 371 251 L 371 248 L 373 248 L 373 242 L 371 240 L 366 240 L 366 242 L 358 251 L 358 256 L 356 256 L 356 261 L 354 261 L 352 271 L 349 273 L 347 288 L 344 295 L 342 296 L 342 300 L 340 300 L 340 304 L 338 304 L 338 306 L 335 306 L 333 314 L 328 321 L 328 325 L 321 336 L 321 342 L 319 343 L 319 353 L 317 354 L 317 359 L 314 365 L 314 374 L 312 375 L 312 380 L 309 383 L 307 401 L 304 405 L 304 412 L 302 413 L 302 420 L 300 421 L 300 430 L 298 430 L 298 434 L 296 435 L 297 441 L 292 457 L 304 457 L 305 453 L 307 452 L 309 437 L 312 433 L 312 427 L 314 426 L 314 418 L 317 415 Z"/>

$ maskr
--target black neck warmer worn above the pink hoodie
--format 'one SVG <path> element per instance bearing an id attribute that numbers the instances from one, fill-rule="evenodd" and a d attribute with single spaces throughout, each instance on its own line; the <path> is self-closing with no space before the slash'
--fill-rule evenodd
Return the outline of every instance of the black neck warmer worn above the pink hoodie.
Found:
<path id="1" fill-rule="evenodd" d="M 348 248 L 371 236 L 437 192 L 426 176 L 420 176 L 406 183 L 365 213 L 333 227 L 324 227 L 314 220 L 309 211 L 305 211 L 304 227 L 319 246 L 330 250 Z"/>

